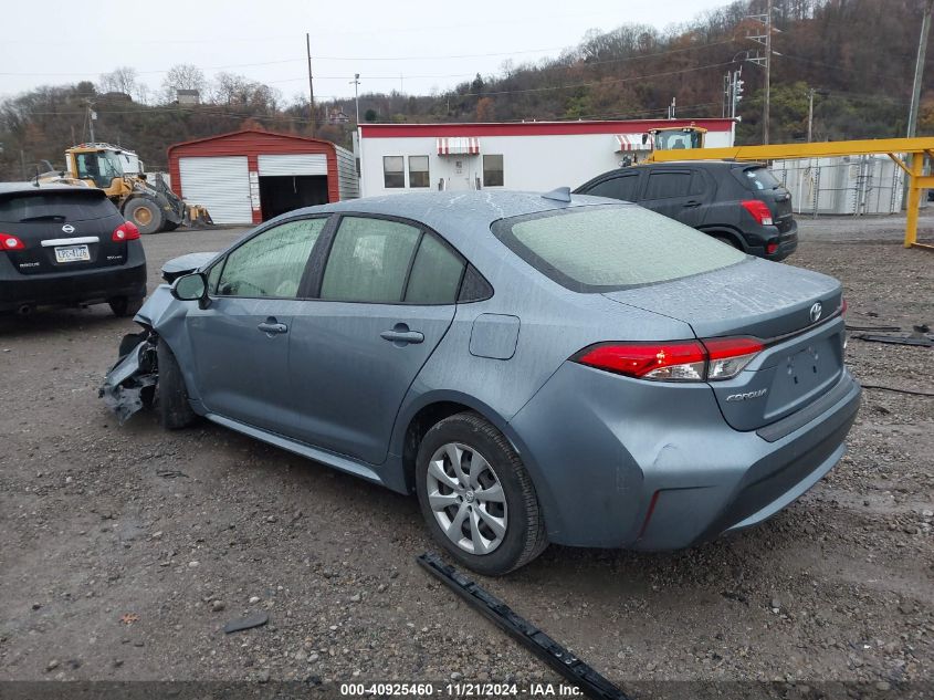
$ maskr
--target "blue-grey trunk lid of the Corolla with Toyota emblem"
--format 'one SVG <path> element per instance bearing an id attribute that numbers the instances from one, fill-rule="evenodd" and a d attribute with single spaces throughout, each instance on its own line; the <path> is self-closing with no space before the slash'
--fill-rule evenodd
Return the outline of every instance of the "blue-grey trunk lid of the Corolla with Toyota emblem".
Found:
<path id="1" fill-rule="evenodd" d="M 726 421 L 755 430 L 809 405 L 843 370 L 840 283 L 757 259 L 673 282 L 608 292 L 688 323 L 699 338 L 752 336 L 762 351 L 736 377 L 711 382 Z"/>

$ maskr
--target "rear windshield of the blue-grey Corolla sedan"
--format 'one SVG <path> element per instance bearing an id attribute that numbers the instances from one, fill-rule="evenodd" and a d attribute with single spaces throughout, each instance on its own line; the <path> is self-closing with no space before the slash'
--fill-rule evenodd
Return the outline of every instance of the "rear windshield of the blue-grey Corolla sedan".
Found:
<path id="1" fill-rule="evenodd" d="M 493 232 L 539 272 L 576 292 L 680 280 L 746 258 L 705 233 L 632 205 L 502 219 Z"/>

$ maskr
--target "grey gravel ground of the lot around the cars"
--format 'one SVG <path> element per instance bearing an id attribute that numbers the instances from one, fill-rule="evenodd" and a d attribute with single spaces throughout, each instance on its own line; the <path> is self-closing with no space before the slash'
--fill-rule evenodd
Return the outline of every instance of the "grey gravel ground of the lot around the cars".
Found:
<path id="1" fill-rule="evenodd" d="M 934 258 L 896 242 L 898 218 L 801 230 L 790 262 L 843 280 L 851 324 L 934 326 Z M 151 284 L 239 233 L 146 238 Z M 555 680 L 416 565 L 433 547 L 413 499 L 210 424 L 117 426 L 96 390 L 134 330 L 102 306 L 0 320 L 0 680 Z M 934 391 L 932 353 L 851 339 L 849 363 Z M 867 390 L 849 446 L 751 531 L 553 546 L 481 583 L 623 685 L 931 680 L 934 399 Z"/>

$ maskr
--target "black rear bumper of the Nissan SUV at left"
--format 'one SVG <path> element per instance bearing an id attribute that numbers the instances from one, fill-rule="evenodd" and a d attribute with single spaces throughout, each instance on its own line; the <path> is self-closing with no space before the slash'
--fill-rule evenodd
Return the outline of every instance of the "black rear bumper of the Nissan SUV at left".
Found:
<path id="1" fill-rule="evenodd" d="M 127 248 L 127 261 L 120 265 L 36 275 L 21 274 L 0 254 L 0 311 L 94 304 L 115 296 L 141 299 L 146 296 L 146 257 L 141 245 Z"/>

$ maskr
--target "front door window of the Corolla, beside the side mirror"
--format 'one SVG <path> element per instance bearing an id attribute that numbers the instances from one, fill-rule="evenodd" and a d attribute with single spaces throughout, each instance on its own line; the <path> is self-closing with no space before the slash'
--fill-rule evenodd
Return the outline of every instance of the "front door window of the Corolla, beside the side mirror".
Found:
<path id="1" fill-rule="evenodd" d="M 327 218 L 298 219 L 251 238 L 227 257 L 217 294 L 295 299 L 312 248 L 326 223 Z"/>

